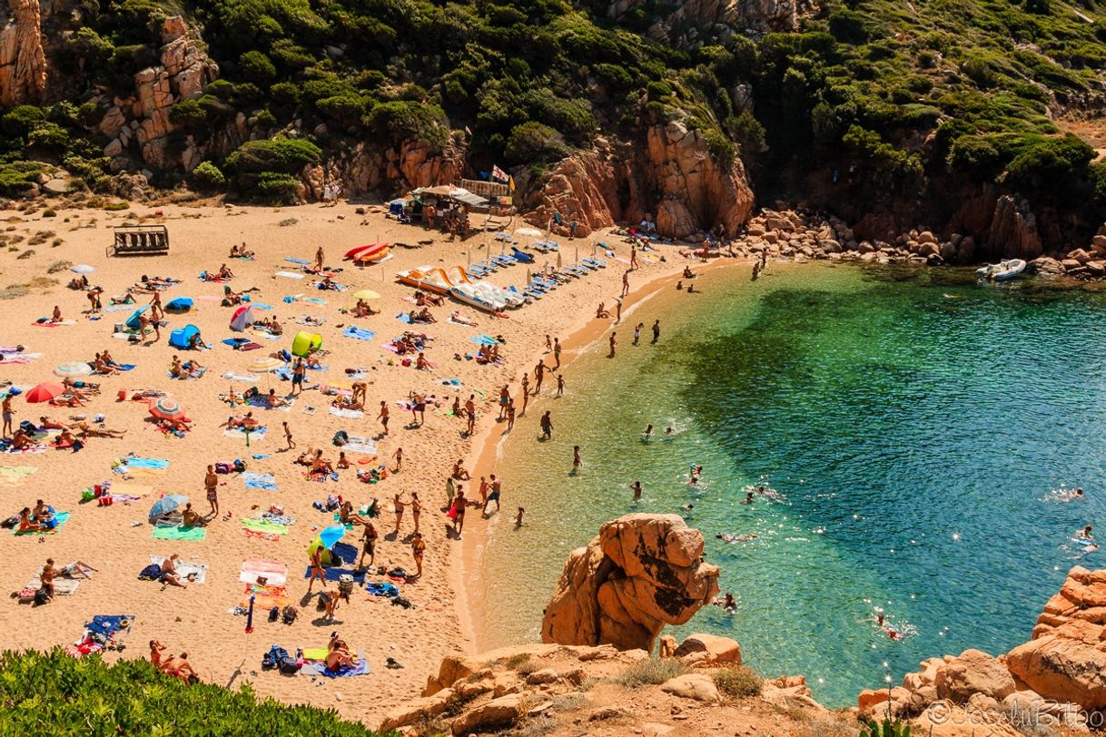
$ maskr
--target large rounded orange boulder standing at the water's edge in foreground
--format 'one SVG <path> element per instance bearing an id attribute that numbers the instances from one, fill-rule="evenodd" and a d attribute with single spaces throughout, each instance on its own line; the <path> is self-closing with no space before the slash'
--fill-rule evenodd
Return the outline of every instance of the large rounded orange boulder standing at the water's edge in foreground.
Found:
<path id="1" fill-rule="evenodd" d="M 542 642 L 653 650 L 718 593 L 703 539 L 677 515 L 626 515 L 573 550 L 542 621 Z"/>

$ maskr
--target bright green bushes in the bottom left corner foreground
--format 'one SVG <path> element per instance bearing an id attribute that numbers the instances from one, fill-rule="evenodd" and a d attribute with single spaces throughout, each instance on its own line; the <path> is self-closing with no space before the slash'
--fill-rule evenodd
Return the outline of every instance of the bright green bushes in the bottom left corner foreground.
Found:
<path id="1" fill-rule="evenodd" d="M 249 689 L 186 686 L 146 661 L 107 666 L 97 656 L 0 655 L 0 734 L 317 735 L 372 737 L 331 710 L 259 702 Z"/>

